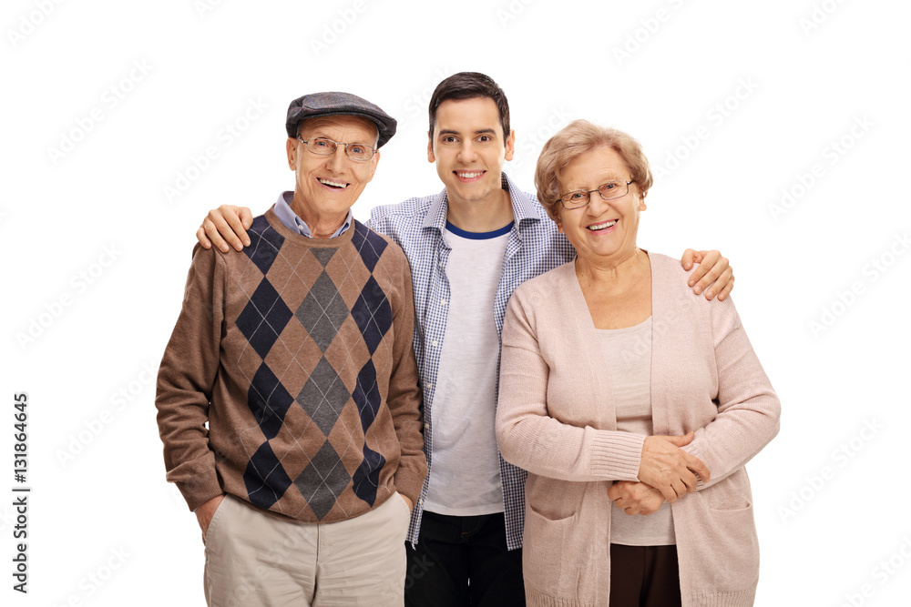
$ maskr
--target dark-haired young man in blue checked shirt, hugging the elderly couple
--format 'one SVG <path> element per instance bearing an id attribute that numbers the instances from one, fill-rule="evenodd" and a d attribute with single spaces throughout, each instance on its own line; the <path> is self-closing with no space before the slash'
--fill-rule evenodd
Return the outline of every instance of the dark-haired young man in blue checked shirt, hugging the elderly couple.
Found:
<path id="1" fill-rule="evenodd" d="M 415 356 L 424 389 L 429 473 L 412 514 L 408 605 L 524 605 L 526 472 L 496 448 L 499 332 L 519 284 L 575 252 L 503 166 L 515 150 L 506 95 L 483 74 L 446 78 L 430 100 L 427 159 L 445 189 L 375 207 L 368 225 L 398 243 L 415 288 Z M 210 211 L 197 237 L 241 250 L 250 210 Z M 227 242 L 226 242 L 227 240 Z M 726 296 L 727 259 L 687 250 L 697 293 Z M 710 288 L 711 285 L 711 288 Z M 470 583 L 469 583 L 470 581 Z"/>

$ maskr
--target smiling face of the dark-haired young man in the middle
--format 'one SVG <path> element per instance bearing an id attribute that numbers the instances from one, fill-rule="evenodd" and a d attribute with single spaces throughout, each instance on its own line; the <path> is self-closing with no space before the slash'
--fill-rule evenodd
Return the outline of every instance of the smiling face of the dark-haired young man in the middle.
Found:
<path id="1" fill-rule="evenodd" d="M 427 159 L 436 163 L 450 204 L 498 202 L 503 163 L 512 160 L 515 137 L 504 137 L 490 97 L 447 99 L 436 110 Z"/>

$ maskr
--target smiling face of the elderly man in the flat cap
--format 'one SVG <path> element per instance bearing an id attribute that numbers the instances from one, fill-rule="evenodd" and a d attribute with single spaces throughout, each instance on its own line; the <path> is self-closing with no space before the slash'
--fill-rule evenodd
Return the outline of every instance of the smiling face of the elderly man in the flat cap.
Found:
<path id="1" fill-rule="evenodd" d="M 321 116 L 305 120 L 299 127 L 304 140 L 325 137 L 348 144 L 376 147 L 374 123 L 358 116 Z M 288 139 L 288 166 L 296 173 L 292 208 L 308 224 L 316 218 L 338 219 L 340 225 L 363 188 L 374 178 L 380 153 L 366 162 L 345 155 L 339 145 L 331 156 L 319 156 L 301 139 Z"/>

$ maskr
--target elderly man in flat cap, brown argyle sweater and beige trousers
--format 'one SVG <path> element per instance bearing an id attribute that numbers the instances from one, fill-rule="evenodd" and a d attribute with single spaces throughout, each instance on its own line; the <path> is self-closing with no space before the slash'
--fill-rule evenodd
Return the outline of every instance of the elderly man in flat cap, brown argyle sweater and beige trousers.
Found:
<path id="1" fill-rule="evenodd" d="M 287 117 L 293 192 L 246 255 L 197 246 L 159 369 L 168 480 L 210 605 L 402 605 L 426 475 L 402 249 L 353 219 L 395 120 L 320 93 Z"/>

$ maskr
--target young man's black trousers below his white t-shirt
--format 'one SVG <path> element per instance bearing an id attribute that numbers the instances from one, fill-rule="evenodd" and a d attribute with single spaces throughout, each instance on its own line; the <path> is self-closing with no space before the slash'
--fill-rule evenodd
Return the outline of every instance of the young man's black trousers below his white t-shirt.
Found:
<path id="1" fill-rule="evenodd" d="M 503 513 L 446 516 L 424 512 L 413 549 L 405 542 L 407 607 L 525 605 L 522 551 L 507 550 Z"/>

